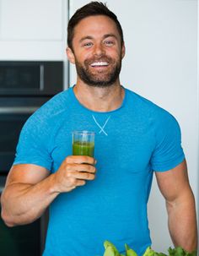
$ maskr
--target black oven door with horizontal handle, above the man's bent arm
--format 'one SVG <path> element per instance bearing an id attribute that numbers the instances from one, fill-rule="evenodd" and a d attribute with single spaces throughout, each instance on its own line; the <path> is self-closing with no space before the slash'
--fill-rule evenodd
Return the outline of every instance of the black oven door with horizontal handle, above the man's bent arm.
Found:
<path id="1" fill-rule="evenodd" d="M 0 172 L 13 164 L 19 133 L 26 120 L 50 97 L 0 97 Z"/>

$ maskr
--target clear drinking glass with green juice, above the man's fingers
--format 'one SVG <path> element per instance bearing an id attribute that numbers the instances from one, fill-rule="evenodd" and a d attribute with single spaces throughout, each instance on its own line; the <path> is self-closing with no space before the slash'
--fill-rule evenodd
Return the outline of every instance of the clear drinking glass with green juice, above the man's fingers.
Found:
<path id="1" fill-rule="evenodd" d="M 94 132 L 73 131 L 73 155 L 94 157 Z"/>

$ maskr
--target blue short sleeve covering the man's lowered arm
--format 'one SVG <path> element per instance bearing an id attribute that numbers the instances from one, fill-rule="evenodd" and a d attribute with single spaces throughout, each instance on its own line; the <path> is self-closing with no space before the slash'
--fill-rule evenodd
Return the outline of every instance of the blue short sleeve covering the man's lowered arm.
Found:
<path id="1" fill-rule="evenodd" d="M 151 158 L 153 171 L 164 172 L 178 166 L 185 155 L 181 147 L 180 126 L 175 117 L 162 112 L 154 125 L 155 149 Z"/>

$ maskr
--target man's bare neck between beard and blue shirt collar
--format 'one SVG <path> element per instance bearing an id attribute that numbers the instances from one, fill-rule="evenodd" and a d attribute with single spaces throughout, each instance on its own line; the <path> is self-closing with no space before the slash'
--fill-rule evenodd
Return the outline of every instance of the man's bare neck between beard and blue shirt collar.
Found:
<path id="1" fill-rule="evenodd" d="M 124 89 L 120 83 L 108 87 L 94 87 L 77 83 L 74 94 L 85 107 L 95 112 L 110 112 L 119 108 L 124 98 Z"/>

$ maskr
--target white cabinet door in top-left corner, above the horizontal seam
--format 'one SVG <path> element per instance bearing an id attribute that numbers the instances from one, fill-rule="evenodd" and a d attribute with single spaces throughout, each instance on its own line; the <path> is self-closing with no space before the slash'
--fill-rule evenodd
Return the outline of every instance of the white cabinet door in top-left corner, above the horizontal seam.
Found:
<path id="1" fill-rule="evenodd" d="M 62 40 L 62 1 L 1 0 L 3 40 Z"/>

